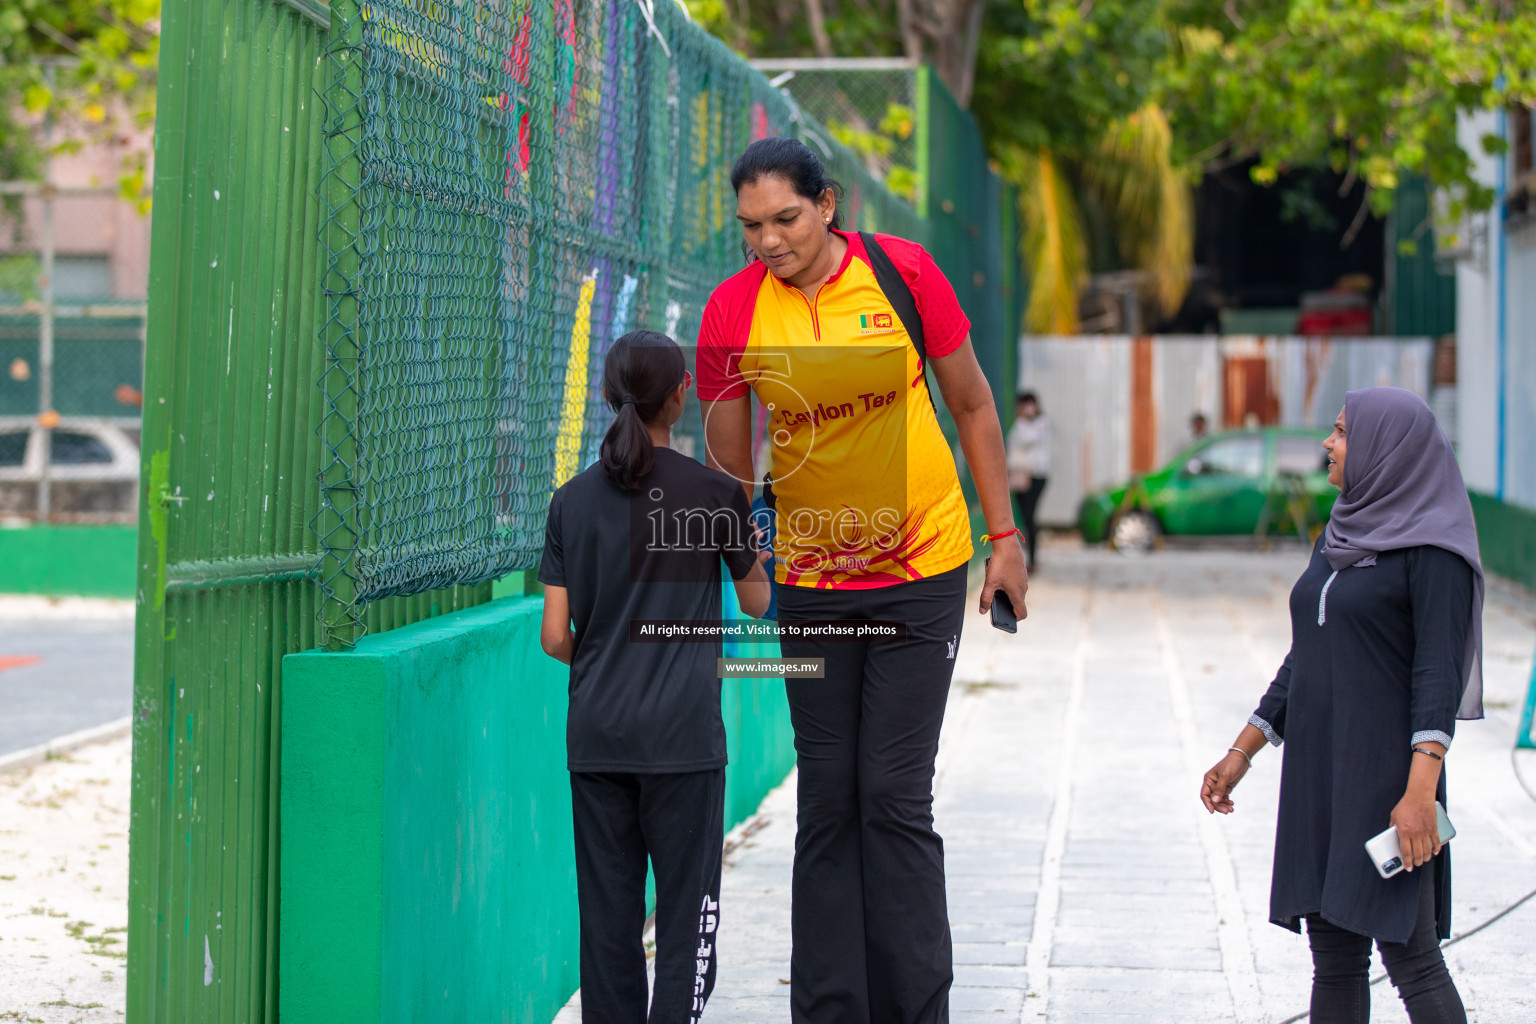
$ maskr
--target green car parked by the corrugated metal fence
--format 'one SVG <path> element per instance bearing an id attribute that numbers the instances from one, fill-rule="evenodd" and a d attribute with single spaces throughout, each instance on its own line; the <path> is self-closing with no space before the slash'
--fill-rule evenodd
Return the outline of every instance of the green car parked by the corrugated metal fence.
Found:
<path id="1" fill-rule="evenodd" d="M 1270 427 L 1212 434 L 1161 470 L 1083 497 L 1083 540 L 1140 554 L 1163 536 L 1316 537 L 1338 490 L 1329 484 L 1321 428 Z"/>

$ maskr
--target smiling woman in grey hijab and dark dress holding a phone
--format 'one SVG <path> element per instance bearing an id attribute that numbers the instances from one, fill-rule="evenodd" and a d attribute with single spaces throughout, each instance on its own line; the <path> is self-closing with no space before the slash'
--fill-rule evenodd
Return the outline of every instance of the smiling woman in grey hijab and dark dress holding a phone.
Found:
<path id="1" fill-rule="evenodd" d="M 1201 800 L 1230 814 L 1253 757 L 1284 740 L 1269 912 L 1293 932 L 1307 923 L 1312 1019 L 1370 1019 L 1375 940 L 1413 1024 L 1464 1024 L 1439 950 L 1450 847 L 1435 801 L 1456 720 L 1482 717 L 1471 502 L 1412 391 L 1350 391 L 1322 447 L 1341 494 L 1290 593 L 1290 654 Z M 1405 870 L 1382 878 L 1366 841 L 1389 824 Z"/>

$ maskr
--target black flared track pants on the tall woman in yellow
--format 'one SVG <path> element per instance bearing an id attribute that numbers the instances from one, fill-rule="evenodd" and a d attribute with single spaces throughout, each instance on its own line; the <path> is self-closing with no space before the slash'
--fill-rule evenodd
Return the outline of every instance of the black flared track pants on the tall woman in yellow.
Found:
<path id="1" fill-rule="evenodd" d="M 954 979 L 934 757 L 965 617 L 966 570 L 865 591 L 779 588 L 779 616 L 894 619 L 892 643 L 785 642 L 825 657 L 786 680 L 799 754 L 794 1024 L 942 1024 Z"/>

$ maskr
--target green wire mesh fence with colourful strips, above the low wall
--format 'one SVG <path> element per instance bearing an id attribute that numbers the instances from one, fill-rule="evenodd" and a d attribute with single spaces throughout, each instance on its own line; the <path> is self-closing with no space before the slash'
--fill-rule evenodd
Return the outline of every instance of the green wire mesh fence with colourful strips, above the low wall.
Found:
<path id="1" fill-rule="evenodd" d="M 313 528 L 346 645 L 370 600 L 535 563 L 551 491 L 608 422 L 611 342 L 690 344 L 740 269 L 728 175 L 750 141 L 806 135 L 857 226 L 923 224 L 674 3 L 332 11 Z"/>

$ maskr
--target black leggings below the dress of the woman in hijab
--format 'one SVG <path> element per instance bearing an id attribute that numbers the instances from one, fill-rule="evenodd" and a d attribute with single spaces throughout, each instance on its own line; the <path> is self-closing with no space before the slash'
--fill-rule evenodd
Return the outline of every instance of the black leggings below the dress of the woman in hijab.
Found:
<path id="1" fill-rule="evenodd" d="M 1467 1024 L 1456 983 L 1445 970 L 1435 924 L 1433 864 L 1419 869 L 1419 918 L 1407 943 L 1376 943 L 1387 976 L 1398 987 L 1413 1024 Z M 1415 872 L 1418 874 L 1418 872 Z M 1347 932 L 1318 915 L 1307 917 L 1312 944 L 1313 1024 L 1370 1021 L 1370 936 Z"/>

